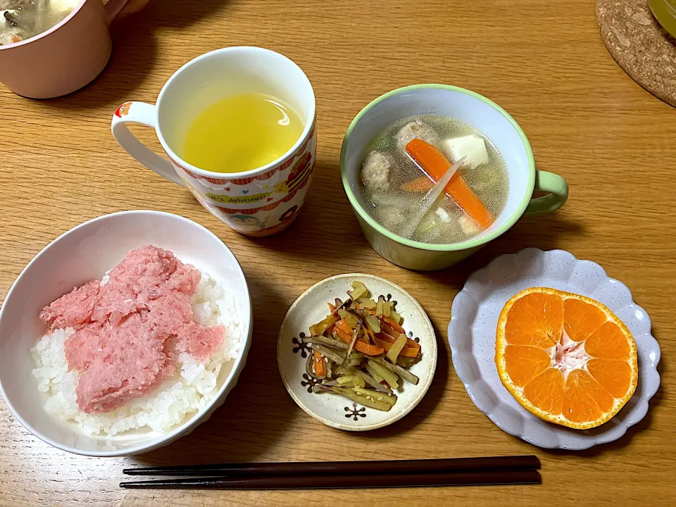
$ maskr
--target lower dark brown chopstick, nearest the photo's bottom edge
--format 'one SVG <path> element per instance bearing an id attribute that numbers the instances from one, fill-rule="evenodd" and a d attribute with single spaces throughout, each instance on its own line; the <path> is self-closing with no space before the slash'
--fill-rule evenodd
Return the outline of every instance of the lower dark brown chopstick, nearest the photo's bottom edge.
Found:
<path id="1" fill-rule="evenodd" d="M 127 489 L 356 489 L 423 486 L 475 486 L 480 484 L 540 484 L 537 470 L 437 472 L 398 475 L 296 475 L 239 479 L 169 479 L 120 482 Z"/>

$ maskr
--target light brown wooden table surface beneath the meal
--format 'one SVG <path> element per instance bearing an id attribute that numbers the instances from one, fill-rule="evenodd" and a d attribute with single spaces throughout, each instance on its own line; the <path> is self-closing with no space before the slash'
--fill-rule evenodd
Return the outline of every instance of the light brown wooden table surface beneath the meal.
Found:
<path id="1" fill-rule="evenodd" d="M 30 101 L 0 89 L 0 299 L 40 249 L 84 220 L 142 208 L 178 213 L 218 234 L 242 263 L 254 306 L 249 367 L 208 423 L 135 458 L 52 449 L 0 401 L 1 505 L 673 505 L 676 111 L 608 55 L 594 1 L 153 0 L 115 26 L 113 38 L 110 65 L 80 92 Z M 269 239 L 232 232 L 186 190 L 127 156 L 110 133 L 118 104 L 153 102 L 180 65 L 235 45 L 291 57 L 317 96 L 320 141 L 308 202 L 287 232 Z M 538 167 L 570 184 L 568 204 L 557 213 L 522 219 L 468 261 L 429 274 L 391 265 L 369 248 L 342 191 L 338 161 L 342 136 L 365 104 L 420 82 L 456 84 L 501 104 L 525 130 Z M 137 132 L 153 142 L 149 130 Z M 478 411 L 453 371 L 446 341 L 453 296 L 472 271 L 526 246 L 566 249 L 600 263 L 651 316 L 662 347 L 662 387 L 646 418 L 618 442 L 578 453 L 526 444 Z M 354 271 L 382 275 L 411 292 L 439 341 L 429 394 L 411 415 L 370 434 L 342 433 L 308 417 L 285 392 L 275 361 L 277 331 L 294 299 L 324 277 Z M 520 453 L 542 460 L 541 486 L 348 492 L 117 486 L 121 470 L 137 463 Z"/>

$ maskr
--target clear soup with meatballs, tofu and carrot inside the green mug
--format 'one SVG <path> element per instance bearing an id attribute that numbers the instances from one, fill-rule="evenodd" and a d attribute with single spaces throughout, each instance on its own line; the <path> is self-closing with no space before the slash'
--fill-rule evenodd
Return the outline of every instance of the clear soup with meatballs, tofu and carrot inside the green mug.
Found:
<path id="1" fill-rule="evenodd" d="M 446 185 L 417 227 L 411 222 L 420 218 L 421 202 L 439 173 L 435 177 L 434 171 L 414 161 L 408 151 L 413 139 L 434 146 L 447 165 L 465 157 L 449 182 L 453 189 L 462 187 L 462 192 L 449 194 Z M 484 217 L 494 220 L 506 204 L 509 176 L 503 156 L 479 130 L 455 118 L 432 114 L 401 118 L 377 134 L 364 153 L 360 168 L 364 208 L 399 236 L 430 244 L 464 242 L 486 230 L 490 220 Z"/>

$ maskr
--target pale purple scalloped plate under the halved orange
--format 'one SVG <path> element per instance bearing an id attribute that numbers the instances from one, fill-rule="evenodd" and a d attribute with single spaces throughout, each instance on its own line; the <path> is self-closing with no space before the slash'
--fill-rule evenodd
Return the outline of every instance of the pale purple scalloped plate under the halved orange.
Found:
<path id="1" fill-rule="evenodd" d="M 511 296 L 529 287 L 552 287 L 601 301 L 634 335 L 638 387 L 608 423 L 592 430 L 547 423 L 522 408 L 500 382 L 494 361 L 498 317 Z M 530 444 L 578 451 L 613 442 L 645 417 L 648 401 L 660 387 L 660 346 L 646 311 L 634 303 L 627 286 L 608 277 L 600 265 L 580 261 L 567 251 L 530 248 L 495 258 L 468 278 L 453 300 L 451 315 L 453 366 L 470 398 L 501 430 Z"/>

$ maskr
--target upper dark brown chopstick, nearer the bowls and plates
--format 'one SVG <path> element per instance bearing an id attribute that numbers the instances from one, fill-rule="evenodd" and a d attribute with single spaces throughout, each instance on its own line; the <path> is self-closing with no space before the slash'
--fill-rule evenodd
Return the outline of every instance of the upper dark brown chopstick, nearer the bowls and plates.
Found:
<path id="1" fill-rule="evenodd" d="M 491 456 L 397 461 L 316 461 L 287 463 L 218 463 L 215 465 L 126 468 L 126 475 L 182 477 L 261 477 L 284 475 L 374 475 L 540 468 L 537 456 Z"/>

